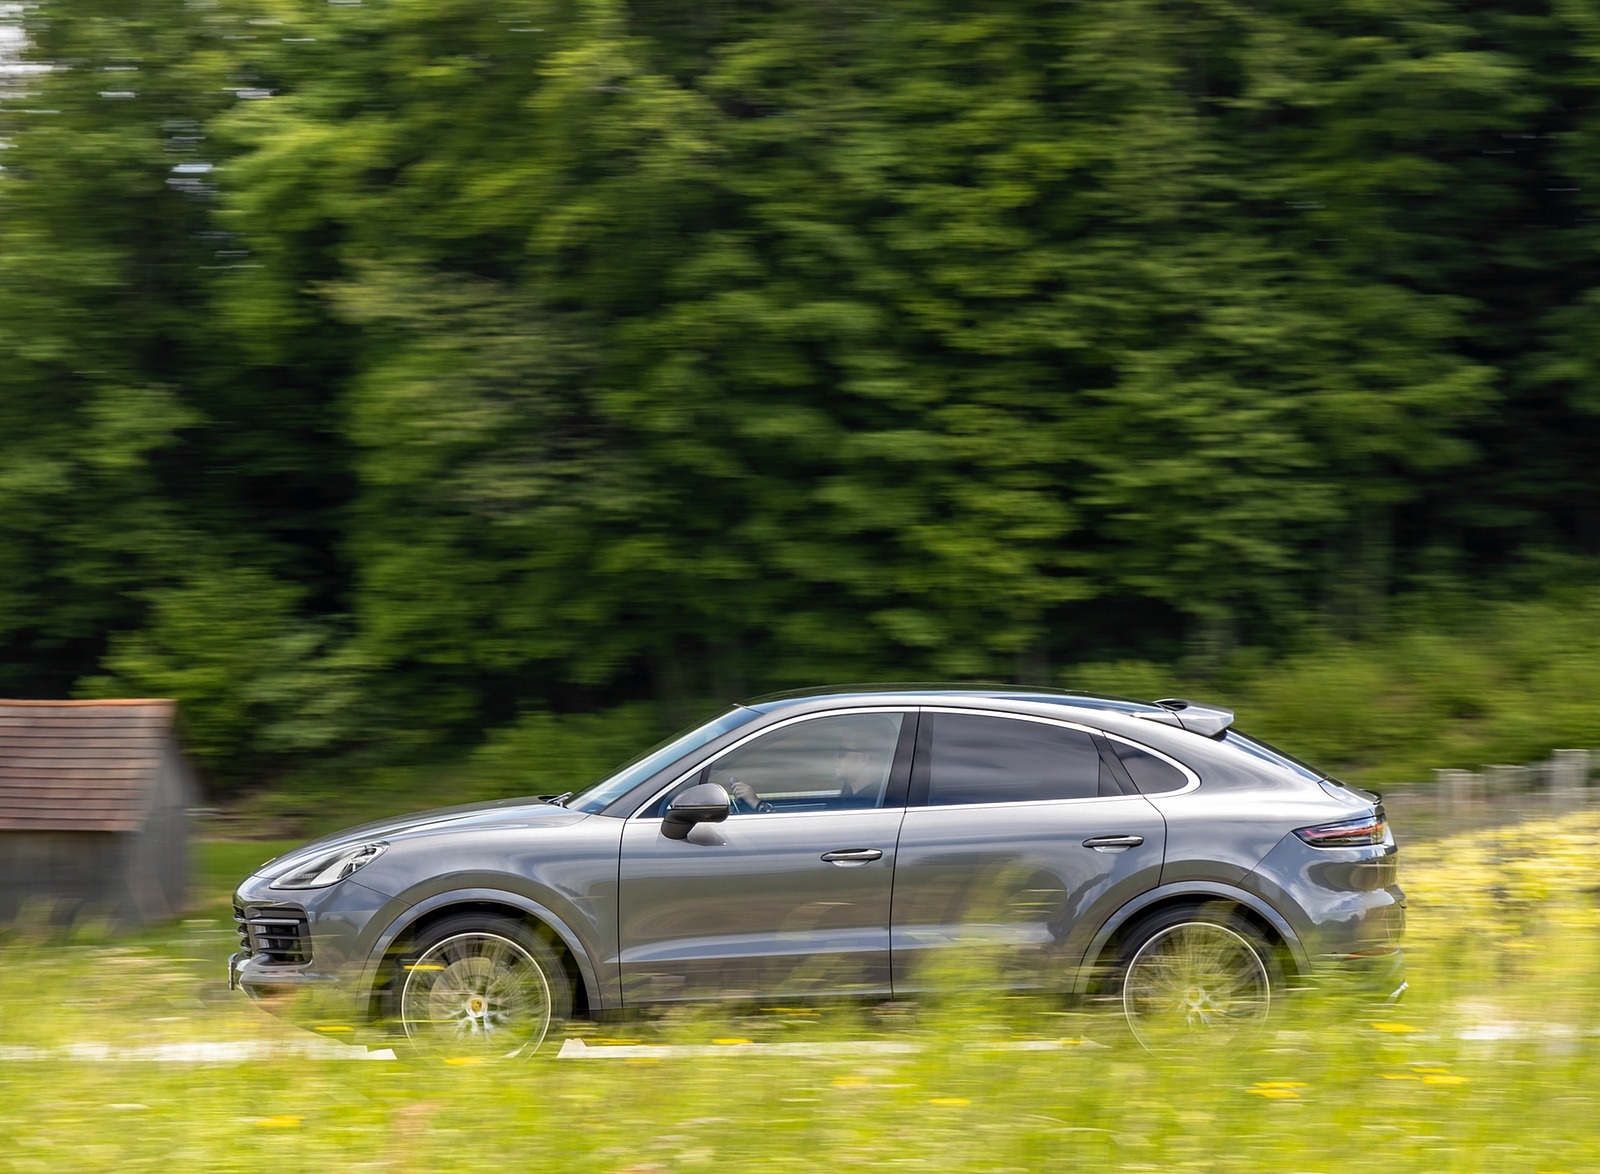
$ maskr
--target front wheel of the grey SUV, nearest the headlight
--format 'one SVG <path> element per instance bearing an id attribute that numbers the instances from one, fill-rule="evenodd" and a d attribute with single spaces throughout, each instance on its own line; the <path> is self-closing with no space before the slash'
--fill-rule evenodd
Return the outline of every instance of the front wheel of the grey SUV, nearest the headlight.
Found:
<path id="1" fill-rule="evenodd" d="M 520 921 L 467 913 L 429 926 L 400 960 L 410 1051 L 446 1059 L 531 1056 L 571 1014 L 560 958 Z"/>

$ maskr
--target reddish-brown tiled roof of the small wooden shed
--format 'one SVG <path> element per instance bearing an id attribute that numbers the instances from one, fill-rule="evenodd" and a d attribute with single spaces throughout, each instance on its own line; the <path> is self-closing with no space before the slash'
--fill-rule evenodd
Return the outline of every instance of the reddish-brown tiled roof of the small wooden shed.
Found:
<path id="1" fill-rule="evenodd" d="M 0 701 L 0 832 L 138 832 L 170 701 Z"/>

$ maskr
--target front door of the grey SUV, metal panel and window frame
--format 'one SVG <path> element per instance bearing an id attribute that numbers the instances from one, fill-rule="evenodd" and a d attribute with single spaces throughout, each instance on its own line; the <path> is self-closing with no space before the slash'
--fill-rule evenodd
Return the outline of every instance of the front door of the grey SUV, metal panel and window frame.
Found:
<path id="1" fill-rule="evenodd" d="M 861 723 L 840 717 L 758 734 L 682 781 L 728 785 L 736 769 L 776 809 L 699 824 L 682 840 L 662 835 L 659 805 L 627 821 L 618 891 L 624 1004 L 890 993 L 890 889 L 914 723 L 874 713 L 878 726 L 866 733 L 882 739 L 885 771 L 877 806 L 830 809 L 834 760 L 843 755 L 829 747 L 848 733 L 845 753 L 861 757 Z M 790 777 L 806 773 L 810 790 Z"/>

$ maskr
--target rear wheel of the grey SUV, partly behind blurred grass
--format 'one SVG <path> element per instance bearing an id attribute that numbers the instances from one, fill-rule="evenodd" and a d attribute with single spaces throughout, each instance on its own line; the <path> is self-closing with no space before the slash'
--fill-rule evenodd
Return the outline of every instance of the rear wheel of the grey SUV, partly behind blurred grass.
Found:
<path id="1" fill-rule="evenodd" d="M 1126 939 L 1118 993 L 1147 1051 L 1253 1038 L 1272 1014 L 1283 972 L 1248 921 L 1226 908 L 1173 908 Z"/>

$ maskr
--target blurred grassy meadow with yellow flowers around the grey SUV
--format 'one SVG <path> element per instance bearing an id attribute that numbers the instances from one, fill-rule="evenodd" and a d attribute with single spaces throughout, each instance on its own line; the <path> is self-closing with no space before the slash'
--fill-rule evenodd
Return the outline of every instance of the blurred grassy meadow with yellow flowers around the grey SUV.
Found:
<path id="1" fill-rule="evenodd" d="M 1152 1057 L 1102 1014 L 973 995 L 662 1019 L 629 1038 L 714 1054 L 517 1065 L 293 1051 L 315 1036 L 219 990 L 226 884 L 270 849 L 208 846 L 213 892 L 166 934 L 0 952 L 0 1169 L 1600 1169 L 1597 843 L 1582 814 L 1408 849 L 1408 1001 L 1301 996 L 1243 1051 Z M 197 1040 L 278 1052 L 70 1051 Z"/>

